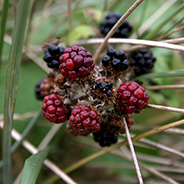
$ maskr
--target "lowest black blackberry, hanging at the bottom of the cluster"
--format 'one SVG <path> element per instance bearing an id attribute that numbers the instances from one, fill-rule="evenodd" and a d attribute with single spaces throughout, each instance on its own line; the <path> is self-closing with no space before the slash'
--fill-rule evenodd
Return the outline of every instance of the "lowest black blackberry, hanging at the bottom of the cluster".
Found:
<path id="1" fill-rule="evenodd" d="M 118 141 L 118 133 L 111 132 L 109 129 L 107 129 L 104 122 L 101 122 L 100 126 L 100 130 L 93 133 L 94 140 L 98 142 L 101 147 L 115 144 Z"/>

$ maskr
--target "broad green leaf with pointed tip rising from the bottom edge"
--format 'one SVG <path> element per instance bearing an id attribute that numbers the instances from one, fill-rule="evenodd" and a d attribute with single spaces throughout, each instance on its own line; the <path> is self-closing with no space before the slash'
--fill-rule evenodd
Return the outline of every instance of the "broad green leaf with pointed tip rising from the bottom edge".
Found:
<path id="1" fill-rule="evenodd" d="M 49 149 L 45 148 L 26 159 L 20 184 L 34 184 L 36 182 L 43 162 L 48 155 L 48 151 Z"/>

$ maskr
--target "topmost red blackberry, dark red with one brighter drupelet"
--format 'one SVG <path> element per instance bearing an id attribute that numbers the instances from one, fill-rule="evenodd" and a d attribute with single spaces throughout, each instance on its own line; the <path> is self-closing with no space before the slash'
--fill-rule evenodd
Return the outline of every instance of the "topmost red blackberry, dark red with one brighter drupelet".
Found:
<path id="1" fill-rule="evenodd" d="M 84 47 L 66 48 L 59 58 L 61 74 L 70 79 L 80 79 L 90 74 L 95 65 L 90 52 Z"/>

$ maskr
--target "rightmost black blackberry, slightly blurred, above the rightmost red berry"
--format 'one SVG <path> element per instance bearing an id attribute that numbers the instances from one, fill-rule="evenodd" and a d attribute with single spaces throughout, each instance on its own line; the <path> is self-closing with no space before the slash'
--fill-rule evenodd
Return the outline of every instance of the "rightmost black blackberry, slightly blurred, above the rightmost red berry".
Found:
<path id="1" fill-rule="evenodd" d="M 129 55 L 130 67 L 135 76 L 150 73 L 156 61 L 151 50 L 141 49 Z"/>

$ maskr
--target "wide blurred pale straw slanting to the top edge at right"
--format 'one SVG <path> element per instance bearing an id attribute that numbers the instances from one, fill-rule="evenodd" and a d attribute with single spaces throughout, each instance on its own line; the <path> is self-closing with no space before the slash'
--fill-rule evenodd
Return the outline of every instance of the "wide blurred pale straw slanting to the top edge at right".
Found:
<path id="1" fill-rule="evenodd" d="M 139 34 L 143 34 L 155 21 L 157 21 L 177 0 L 170 0 L 163 4 L 147 21 L 139 28 Z"/>

